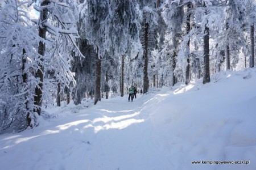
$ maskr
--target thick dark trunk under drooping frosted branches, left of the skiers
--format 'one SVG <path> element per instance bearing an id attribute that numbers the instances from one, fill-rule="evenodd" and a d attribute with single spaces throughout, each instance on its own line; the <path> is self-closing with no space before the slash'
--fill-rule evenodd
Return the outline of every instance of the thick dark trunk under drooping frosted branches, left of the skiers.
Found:
<path id="1" fill-rule="evenodd" d="M 101 59 L 98 57 L 98 48 L 95 55 L 95 94 L 94 105 L 101 101 Z"/>

